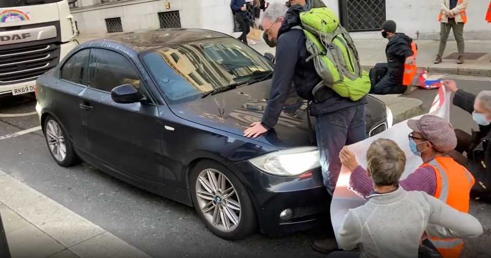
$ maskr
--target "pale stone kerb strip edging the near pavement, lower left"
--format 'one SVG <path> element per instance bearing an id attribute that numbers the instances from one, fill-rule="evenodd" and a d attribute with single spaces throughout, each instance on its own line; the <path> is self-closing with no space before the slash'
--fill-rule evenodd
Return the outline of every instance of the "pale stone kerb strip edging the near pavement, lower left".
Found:
<path id="1" fill-rule="evenodd" d="M 0 171 L 0 202 L 80 258 L 151 258 L 107 230 L 2 171 Z M 7 233 L 7 239 L 9 235 L 11 236 Z M 25 248 L 26 244 L 22 245 L 24 246 L 10 248 Z"/>

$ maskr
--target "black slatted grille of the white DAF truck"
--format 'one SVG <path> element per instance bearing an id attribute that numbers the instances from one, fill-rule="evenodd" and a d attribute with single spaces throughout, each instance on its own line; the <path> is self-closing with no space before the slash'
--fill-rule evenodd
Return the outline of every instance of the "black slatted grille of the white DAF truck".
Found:
<path id="1" fill-rule="evenodd" d="M 39 44 L 0 50 L 0 85 L 32 81 L 59 62 L 60 46 Z"/>

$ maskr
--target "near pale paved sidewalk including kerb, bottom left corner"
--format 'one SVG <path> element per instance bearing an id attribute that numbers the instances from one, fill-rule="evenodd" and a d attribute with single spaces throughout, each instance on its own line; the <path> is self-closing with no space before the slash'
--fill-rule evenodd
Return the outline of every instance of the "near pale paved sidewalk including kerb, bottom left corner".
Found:
<path id="1" fill-rule="evenodd" d="M 0 214 L 12 258 L 151 258 L 2 171 Z"/>

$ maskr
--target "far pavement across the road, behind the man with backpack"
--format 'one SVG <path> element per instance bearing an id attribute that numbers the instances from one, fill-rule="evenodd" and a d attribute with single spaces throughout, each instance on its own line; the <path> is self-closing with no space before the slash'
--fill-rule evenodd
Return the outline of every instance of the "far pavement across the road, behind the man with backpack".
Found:
<path id="1" fill-rule="evenodd" d="M 463 64 L 457 64 L 457 44 L 455 41 L 449 40 L 447 42 L 443 62 L 440 64 L 433 63 L 438 52 L 438 41 L 416 40 L 415 42 L 418 45 L 416 63 L 418 67 L 426 69 L 429 74 L 491 76 L 491 40 L 465 41 L 466 56 Z M 385 56 L 387 39 L 355 40 L 354 43 L 360 55 L 361 63 L 367 71 L 376 63 L 387 62 Z M 257 44 L 249 45 L 261 54 L 265 52 L 275 54 L 275 48 L 270 48 L 262 40 Z M 447 58 L 450 55 L 452 59 Z"/>

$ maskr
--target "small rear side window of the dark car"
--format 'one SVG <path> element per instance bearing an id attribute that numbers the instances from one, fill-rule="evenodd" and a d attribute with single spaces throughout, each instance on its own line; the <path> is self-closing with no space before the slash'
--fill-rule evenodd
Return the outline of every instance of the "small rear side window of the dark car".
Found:
<path id="1" fill-rule="evenodd" d="M 89 49 L 81 50 L 71 56 L 61 67 L 61 79 L 70 82 L 85 84 L 85 75 L 87 73 L 87 62 Z"/>

